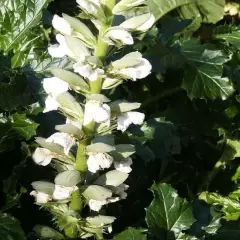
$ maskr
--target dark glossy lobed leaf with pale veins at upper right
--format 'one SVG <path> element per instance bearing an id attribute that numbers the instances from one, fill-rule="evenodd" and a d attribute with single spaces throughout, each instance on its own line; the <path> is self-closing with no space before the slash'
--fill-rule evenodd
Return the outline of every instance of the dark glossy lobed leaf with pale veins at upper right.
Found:
<path id="1" fill-rule="evenodd" d="M 225 100 L 234 93 L 231 80 L 222 76 L 223 64 L 230 60 L 230 56 L 211 48 L 211 45 L 202 45 L 193 39 L 181 44 L 181 54 L 189 66 L 185 70 L 182 87 L 191 99 Z"/>

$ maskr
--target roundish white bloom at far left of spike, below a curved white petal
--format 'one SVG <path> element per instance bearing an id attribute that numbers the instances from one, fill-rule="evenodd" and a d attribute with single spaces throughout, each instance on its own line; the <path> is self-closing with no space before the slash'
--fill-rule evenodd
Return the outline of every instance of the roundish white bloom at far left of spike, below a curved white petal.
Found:
<path id="1" fill-rule="evenodd" d="M 56 154 L 46 148 L 36 148 L 32 155 L 33 161 L 41 166 L 47 166 Z"/>

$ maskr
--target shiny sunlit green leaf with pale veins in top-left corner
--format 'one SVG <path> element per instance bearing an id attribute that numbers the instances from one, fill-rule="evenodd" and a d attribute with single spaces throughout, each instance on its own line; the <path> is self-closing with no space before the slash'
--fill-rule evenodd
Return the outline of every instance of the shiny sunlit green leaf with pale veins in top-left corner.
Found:
<path id="1" fill-rule="evenodd" d="M 36 55 L 41 57 L 46 49 L 44 34 L 38 26 L 43 9 L 51 0 L 3 0 L 0 7 L 0 49 L 6 53 L 13 50 L 12 67 L 26 65 Z M 24 43 L 24 44 L 23 44 Z M 35 58 L 36 59 L 36 58 Z"/>

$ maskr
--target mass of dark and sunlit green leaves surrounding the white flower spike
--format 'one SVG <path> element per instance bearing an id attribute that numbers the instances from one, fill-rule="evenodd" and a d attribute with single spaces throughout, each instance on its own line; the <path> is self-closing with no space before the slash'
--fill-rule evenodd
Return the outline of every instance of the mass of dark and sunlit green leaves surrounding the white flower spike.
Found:
<path id="1" fill-rule="evenodd" d="M 141 102 L 147 116 L 143 126 L 117 135 L 137 153 L 127 200 L 107 209 L 117 218 L 109 239 L 237 240 L 240 19 L 224 15 L 224 0 L 148 4 L 158 22 L 133 48 L 153 73 L 107 92 Z M 0 239 L 36 239 L 34 225 L 54 227 L 29 196 L 31 182 L 52 179 L 52 170 L 37 168 L 30 156 L 34 136 L 49 136 L 62 122 L 55 112 L 41 113 L 43 76 L 68 66 L 47 54 L 52 16 L 62 12 L 77 14 L 75 1 L 0 6 Z"/>

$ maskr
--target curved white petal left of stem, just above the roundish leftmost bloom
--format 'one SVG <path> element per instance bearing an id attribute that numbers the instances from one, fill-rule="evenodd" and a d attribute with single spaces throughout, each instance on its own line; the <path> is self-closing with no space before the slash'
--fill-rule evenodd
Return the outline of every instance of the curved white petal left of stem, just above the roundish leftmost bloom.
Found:
<path id="1" fill-rule="evenodd" d="M 70 149 L 75 144 L 74 137 L 70 136 L 67 133 L 54 133 L 49 138 L 46 139 L 46 142 L 57 143 L 64 148 L 64 153 L 66 155 L 69 154 Z"/>

